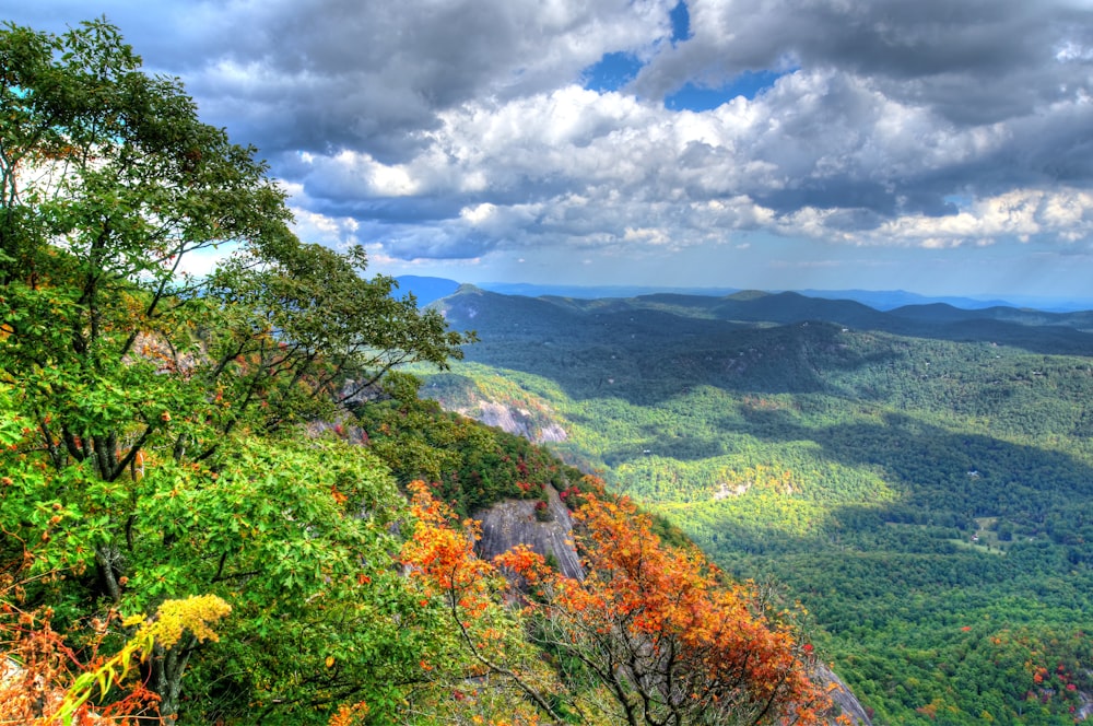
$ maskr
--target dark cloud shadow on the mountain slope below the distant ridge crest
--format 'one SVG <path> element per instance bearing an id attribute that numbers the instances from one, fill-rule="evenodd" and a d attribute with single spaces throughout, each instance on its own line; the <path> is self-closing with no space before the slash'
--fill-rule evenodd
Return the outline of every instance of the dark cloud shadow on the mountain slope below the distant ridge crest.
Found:
<path id="1" fill-rule="evenodd" d="M 600 321 L 591 331 L 541 339 L 480 331 L 466 360 L 556 383 L 574 400 L 619 398 L 654 406 L 700 386 L 741 394 L 837 393 L 828 377 L 896 364 L 897 350 L 863 351 L 831 324 L 755 328 L 681 318 L 672 328 Z"/>

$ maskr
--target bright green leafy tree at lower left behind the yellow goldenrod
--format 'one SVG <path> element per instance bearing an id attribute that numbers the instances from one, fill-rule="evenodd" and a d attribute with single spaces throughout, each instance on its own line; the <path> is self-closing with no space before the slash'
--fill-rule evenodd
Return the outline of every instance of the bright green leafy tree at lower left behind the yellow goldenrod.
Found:
<path id="1" fill-rule="evenodd" d="M 0 522 L 7 548 L 27 543 L 11 558 L 25 585 L 0 593 L 0 631 L 17 627 L 21 609 L 51 610 L 85 653 L 93 620 L 215 595 L 233 609 L 223 640 L 212 649 L 189 633 L 156 644 L 142 670 L 168 722 L 189 670 L 189 713 L 200 722 L 322 722 L 345 700 L 368 701 L 380 723 L 393 714 L 432 633 L 411 627 L 416 600 L 391 566 L 403 507 L 365 449 L 233 436 L 216 470 L 153 456 L 140 481 L 108 482 L 15 446 L 3 457 Z M 116 599 L 96 566 L 104 547 L 118 552 Z M 104 652 L 131 630 L 114 628 Z"/>

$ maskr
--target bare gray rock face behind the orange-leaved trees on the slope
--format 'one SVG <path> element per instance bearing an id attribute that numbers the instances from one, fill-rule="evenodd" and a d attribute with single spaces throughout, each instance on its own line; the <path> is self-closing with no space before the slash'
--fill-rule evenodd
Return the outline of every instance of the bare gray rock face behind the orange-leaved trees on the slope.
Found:
<path id="1" fill-rule="evenodd" d="M 474 517 L 482 522 L 479 554 L 491 559 L 517 544 L 527 544 L 544 558 L 553 554 L 563 575 L 584 579 L 585 571 L 572 544 L 569 511 L 553 487 L 546 487 L 546 494 L 550 522 L 536 518 L 536 503 L 531 500 L 506 500 L 477 513 Z"/>

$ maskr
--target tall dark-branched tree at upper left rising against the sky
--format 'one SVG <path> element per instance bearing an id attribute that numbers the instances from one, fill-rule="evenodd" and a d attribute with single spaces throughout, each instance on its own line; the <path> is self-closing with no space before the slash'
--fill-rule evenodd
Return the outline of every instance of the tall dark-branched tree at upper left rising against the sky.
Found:
<path id="1" fill-rule="evenodd" d="M 35 382 L 51 464 L 115 480 L 204 393 L 157 375 L 198 352 L 208 311 L 183 259 L 284 234 L 283 195 L 103 21 L 59 38 L 8 25 L 0 57 L 0 365 L 16 390 Z"/>

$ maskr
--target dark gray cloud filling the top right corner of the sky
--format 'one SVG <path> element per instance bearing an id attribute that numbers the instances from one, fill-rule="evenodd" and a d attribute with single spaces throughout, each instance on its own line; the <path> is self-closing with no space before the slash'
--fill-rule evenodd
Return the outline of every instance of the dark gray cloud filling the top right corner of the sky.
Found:
<path id="1" fill-rule="evenodd" d="M 1093 9 L 1063 0 L 690 0 L 694 35 L 643 69 L 662 96 L 698 78 L 800 66 L 873 79 L 967 125 L 1089 93 Z"/>

